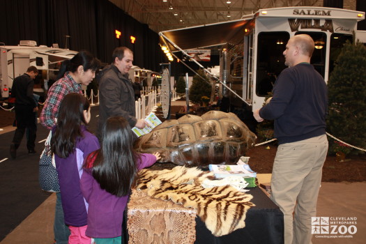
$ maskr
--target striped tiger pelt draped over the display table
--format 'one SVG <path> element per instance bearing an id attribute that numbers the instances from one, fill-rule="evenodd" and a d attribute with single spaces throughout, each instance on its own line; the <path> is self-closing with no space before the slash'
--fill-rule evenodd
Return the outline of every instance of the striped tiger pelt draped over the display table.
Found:
<path id="1" fill-rule="evenodd" d="M 186 208 L 195 208 L 197 215 L 214 236 L 223 236 L 245 227 L 247 210 L 254 206 L 252 195 L 226 185 L 201 187 L 205 179 L 213 180 L 213 173 L 182 166 L 162 171 L 143 169 L 139 172 L 137 190 L 150 197 L 171 200 Z"/>

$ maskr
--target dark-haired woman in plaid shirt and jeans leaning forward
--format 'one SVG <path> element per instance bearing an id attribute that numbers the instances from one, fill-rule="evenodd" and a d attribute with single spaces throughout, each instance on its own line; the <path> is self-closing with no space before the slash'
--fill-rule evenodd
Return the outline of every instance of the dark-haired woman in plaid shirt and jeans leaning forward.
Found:
<path id="1" fill-rule="evenodd" d="M 56 125 L 61 101 L 68 93 L 82 94 L 82 84 L 89 85 L 96 71 L 100 67 L 100 61 L 90 52 L 78 52 L 73 59 L 63 61 L 58 80 L 49 87 L 47 99 L 40 113 L 40 123 L 51 130 Z M 63 210 L 61 194 L 56 193 L 56 208 L 54 217 L 54 238 L 56 244 L 68 243 L 70 231 L 63 222 Z"/>

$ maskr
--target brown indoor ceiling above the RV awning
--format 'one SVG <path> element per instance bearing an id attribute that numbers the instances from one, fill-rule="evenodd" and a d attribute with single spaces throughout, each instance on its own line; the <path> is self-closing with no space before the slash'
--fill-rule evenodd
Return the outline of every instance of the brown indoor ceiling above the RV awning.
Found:
<path id="1" fill-rule="evenodd" d="M 155 32 L 238 20 L 261 8 L 322 6 L 323 0 L 109 0 Z M 230 2 L 230 3 L 229 3 Z"/>

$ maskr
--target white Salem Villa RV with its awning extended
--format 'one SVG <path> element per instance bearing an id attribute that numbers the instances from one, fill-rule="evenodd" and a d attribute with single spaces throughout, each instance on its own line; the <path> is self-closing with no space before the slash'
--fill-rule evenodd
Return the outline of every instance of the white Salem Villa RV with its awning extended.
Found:
<path id="1" fill-rule="evenodd" d="M 340 49 L 346 40 L 352 41 L 357 22 L 364 19 L 363 12 L 340 8 L 268 8 L 241 20 L 159 34 L 176 57 L 179 52 L 186 54 L 186 49 L 220 49 L 224 96 L 230 98 L 231 105 L 244 103 L 254 110 L 263 105 L 277 75 L 285 68 L 282 53 L 291 36 L 312 36 L 316 49 L 311 62 L 328 82 Z"/>

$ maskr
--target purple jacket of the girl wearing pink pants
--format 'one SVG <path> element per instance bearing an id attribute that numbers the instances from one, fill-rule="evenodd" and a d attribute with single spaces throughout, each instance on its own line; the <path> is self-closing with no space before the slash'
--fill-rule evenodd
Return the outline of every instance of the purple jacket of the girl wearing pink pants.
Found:
<path id="1" fill-rule="evenodd" d="M 75 151 L 68 158 L 59 158 L 54 155 L 65 224 L 73 227 L 82 227 L 87 224 L 88 205 L 80 190 L 80 178 L 84 159 L 92 151 L 100 148 L 95 135 L 82 126 L 83 138 L 77 140 Z"/>

